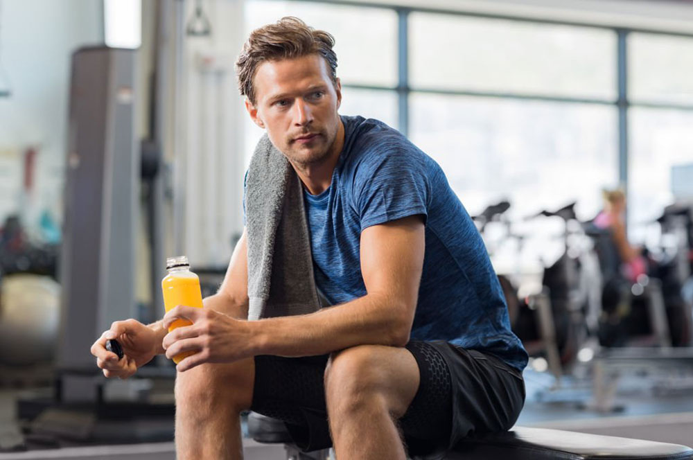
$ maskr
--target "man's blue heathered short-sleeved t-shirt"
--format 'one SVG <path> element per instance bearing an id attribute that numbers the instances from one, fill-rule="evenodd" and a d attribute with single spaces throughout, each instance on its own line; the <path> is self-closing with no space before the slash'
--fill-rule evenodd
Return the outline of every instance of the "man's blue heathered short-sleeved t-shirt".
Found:
<path id="1" fill-rule="evenodd" d="M 344 148 L 330 187 L 304 191 L 317 288 L 331 304 L 365 296 L 361 231 L 423 215 L 426 254 L 410 338 L 491 353 L 522 371 L 527 353 L 510 330 L 486 247 L 443 170 L 385 123 L 342 122 Z"/>

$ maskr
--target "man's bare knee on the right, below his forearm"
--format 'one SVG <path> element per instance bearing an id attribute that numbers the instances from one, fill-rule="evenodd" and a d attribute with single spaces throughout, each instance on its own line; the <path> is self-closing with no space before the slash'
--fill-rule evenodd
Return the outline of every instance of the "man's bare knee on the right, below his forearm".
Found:
<path id="1" fill-rule="evenodd" d="M 325 368 L 329 412 L 353 412 L 387 405 L 387 375 L 376 345 L 360 345 L 332 353 Z"/>

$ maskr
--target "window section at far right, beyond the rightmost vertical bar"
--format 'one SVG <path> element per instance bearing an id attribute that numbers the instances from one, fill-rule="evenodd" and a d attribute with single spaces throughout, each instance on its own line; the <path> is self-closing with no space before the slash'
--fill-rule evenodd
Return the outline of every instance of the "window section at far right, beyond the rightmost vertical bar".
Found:
<path id="1" fill-rule="evenodd" d="M 648 225 L 676 200 L 674 168 L 693 166 L 693 37 L 628 37 L 629 227 Z"/>

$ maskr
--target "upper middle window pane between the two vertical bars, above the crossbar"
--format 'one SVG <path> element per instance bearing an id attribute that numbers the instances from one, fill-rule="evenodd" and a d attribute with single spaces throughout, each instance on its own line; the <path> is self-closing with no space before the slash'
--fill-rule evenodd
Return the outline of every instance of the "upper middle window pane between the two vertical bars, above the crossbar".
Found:
<path id="1" fill-rule="evenodd" d="M 409 30 L 412 87 L 616 96 L 610 30 L 419 12 Z"/>

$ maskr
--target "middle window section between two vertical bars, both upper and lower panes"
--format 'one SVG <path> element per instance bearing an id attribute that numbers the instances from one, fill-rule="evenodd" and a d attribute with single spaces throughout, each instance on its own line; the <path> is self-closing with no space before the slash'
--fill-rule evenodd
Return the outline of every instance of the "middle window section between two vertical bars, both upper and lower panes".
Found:
<path id="1" fill-rule="evenodd" d="M 410 137 L 468 211 L 576 201 L 592 218 L 618 180 L 615 33 L 428 12 L 408 24 Z"/>

